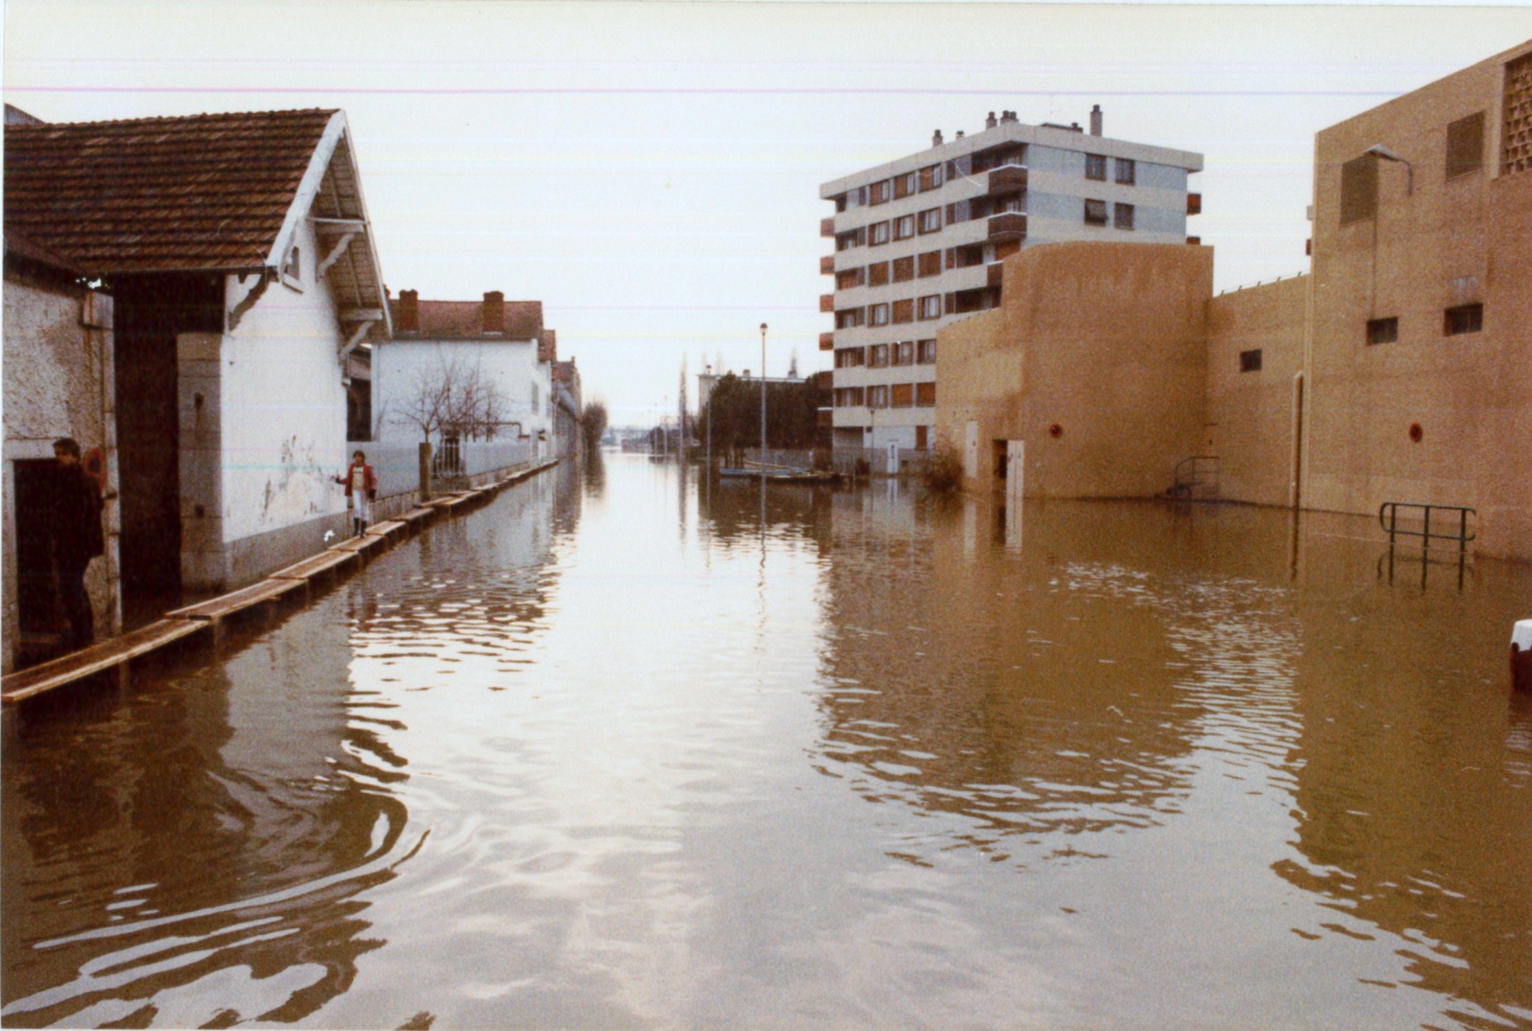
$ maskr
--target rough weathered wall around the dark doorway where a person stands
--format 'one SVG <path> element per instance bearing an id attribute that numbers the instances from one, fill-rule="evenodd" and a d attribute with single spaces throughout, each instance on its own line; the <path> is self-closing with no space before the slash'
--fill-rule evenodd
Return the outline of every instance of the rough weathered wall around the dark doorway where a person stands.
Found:
<path id="1" fill-rule="evenodd" d="M 20 633 L 15 555 L 15 463 L 52 460 L 54 441 L 74 437 L 107 458 L 103 504 L 106 555 L 90 562 L 86 590 L 97 637 L 121 627 L 118 593 L 116 418 L 112 299 L 46 271 L 5 270 L 5 547 L 3 668 L 12 669 Z"/>

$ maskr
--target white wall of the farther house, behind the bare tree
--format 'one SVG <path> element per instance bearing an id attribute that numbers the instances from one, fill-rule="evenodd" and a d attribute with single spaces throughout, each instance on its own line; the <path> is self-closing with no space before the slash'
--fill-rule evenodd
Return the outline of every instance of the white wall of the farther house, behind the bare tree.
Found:
<path id="1" fill-rule="evenodd" d="M 380 441 L 420 441 L 406 411 L 418 385 L 443 366 L 478 366 L 496 386 L 502 423 L 519 423 L 532 437 L 532 458 L 553 453 L 553 366 L 538 362 L 532 340 L 389 340 L 372 348 L 372 418 Z M 507 430 L 509 432 L 509 430 Z M 545 434 L 547 440 L 538 441 Z M 440 440 L 432 441 L 440 446 Z M 541 443 L 541 450 L 539 450 Z"/>

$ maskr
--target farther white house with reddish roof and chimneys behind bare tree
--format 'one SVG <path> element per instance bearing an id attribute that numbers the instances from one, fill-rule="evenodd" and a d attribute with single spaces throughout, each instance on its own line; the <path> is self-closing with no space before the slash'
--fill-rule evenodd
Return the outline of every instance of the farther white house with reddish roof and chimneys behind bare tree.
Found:
<path id="1" fill-rule="evenodd" d="M 372 348 L 374 440 L 423 443 L 452 453 L 470 441 L 522 441 L 529 458 L 553 455 L 553 331 L 541 300 L 389 303 L 394 335 Z M 464 415 L 461 409 L 473 407 Z M 447 412 L 444 409 L 458 409 Z"/>

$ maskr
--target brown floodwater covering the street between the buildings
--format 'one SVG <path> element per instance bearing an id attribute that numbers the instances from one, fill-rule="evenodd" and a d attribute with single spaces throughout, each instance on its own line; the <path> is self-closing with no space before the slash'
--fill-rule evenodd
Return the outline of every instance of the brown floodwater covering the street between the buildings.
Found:
<path id="1" fill-rule="evenodd" d="M 562 467 L 9 711 L 0 1019 L 1532 1026 L 1532 567 L 1383 555 Z"/>

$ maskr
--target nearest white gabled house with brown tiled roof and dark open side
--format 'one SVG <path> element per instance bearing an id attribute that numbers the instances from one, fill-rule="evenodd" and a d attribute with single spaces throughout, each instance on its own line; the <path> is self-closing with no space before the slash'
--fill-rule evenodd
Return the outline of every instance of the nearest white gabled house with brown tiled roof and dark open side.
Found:
<path id="1" fill-rule="evenodd" d="M 389 319 L 345 113 L 5 132 L 8 234 L 113 300 L 124 622 L 345 530 L 348 355 Z"/>

